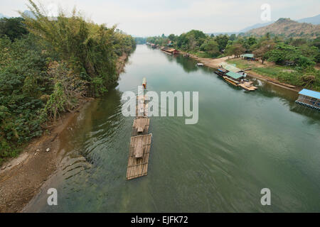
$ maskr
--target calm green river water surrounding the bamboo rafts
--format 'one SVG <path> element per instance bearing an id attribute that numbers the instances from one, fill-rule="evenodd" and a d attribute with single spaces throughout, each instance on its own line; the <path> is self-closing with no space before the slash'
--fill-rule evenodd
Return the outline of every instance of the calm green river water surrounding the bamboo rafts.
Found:
<path id="1" fill-rule="evenodd" d="M 149 91 L 198 91 L 199 119 L 151 117 L 148 175 L 127 181 L 134 118 L 122 116 L 121 97 L 143 77 Z M 294 104 L 297 92 L 255 85 L 245 92 L 191 59 L 138 45 L 119 85 L 60 135 L 60 170 L 24 211 L 319 212 L 320 113 Z M 47 204 L 52 187 L 58 206 Z"/>

